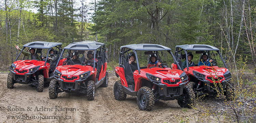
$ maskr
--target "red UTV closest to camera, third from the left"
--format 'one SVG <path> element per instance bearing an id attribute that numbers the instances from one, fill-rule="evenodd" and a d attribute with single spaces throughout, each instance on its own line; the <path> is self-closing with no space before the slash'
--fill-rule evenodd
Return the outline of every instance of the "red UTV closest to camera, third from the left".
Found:
<path id="1" fill-rule="evenodd" d="M 132 52 L 135 54 L 138 67 L 134 72 L 128 58 Z M 156 54 L 156 59 L 161 64 L 147 68 L 148 55 L 152 54 Z M 170 61 L 171 58 L 174 58 L 171 49 L 162 45 L 121 46 L 119 67 L 115 67 L 115 74 L 120 77 L 114 84 L 115 99 L 125 100 L 127 94 L 137 96 L 139 108 L 147 111 L 152 110 L 155 101 L 158 100 L 176 99 L 181 107 L 191 108 L 195 100 L 194 91 L 185 85 L 188 77 L 182 70 L 168 68 L 166 61 Z"/>

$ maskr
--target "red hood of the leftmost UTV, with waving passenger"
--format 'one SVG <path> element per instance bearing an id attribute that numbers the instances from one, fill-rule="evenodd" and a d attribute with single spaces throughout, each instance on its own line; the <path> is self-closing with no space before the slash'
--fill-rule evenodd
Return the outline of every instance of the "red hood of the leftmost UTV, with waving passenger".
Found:
<path id="1" fill-rule="evenodd" d="M 13 64 L 16 66 L 15 70 L 18 69 L 19 71 L 23 70 L 29 70 L 31 68 L 34 68 L 36 66 L 43 66 L 44 61 L 37 61 L 37 60 L 19 60 L 15 61 Z M 49 65 L 49 63 L 46 63 L 46 66 Z"/>

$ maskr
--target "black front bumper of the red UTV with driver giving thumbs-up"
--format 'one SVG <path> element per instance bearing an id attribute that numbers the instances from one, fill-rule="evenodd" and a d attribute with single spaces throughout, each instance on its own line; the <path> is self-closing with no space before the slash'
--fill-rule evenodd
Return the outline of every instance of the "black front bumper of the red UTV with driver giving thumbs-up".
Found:
<path id="1" fill-rule="evenodd" d="M 159 98 L 162 100 L 175 100 L 179 98 L 183 93 L 183 88 L 185 85 L 185 83 L 183 82 L 176 87 L 167 87 L 166 84 L 155 82 L 153 83 L 158 85 Z"/>

